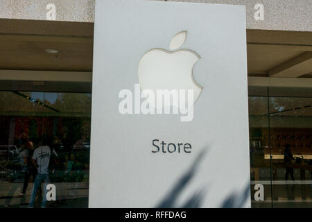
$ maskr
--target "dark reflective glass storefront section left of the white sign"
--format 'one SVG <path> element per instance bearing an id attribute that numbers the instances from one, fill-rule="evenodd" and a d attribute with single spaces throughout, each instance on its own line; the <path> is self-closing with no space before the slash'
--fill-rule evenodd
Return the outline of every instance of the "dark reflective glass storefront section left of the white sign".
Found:
<path id="1" fill-rule="evenodd" d="M 91 99 L 90 93 L 0 92 L 1 207 L 28 206 L 37 173 L 31 159 L 44 145 L 57 154 L 46 166 L 56 200 L 46 207 L 87 207 Z M 43 194 L 38 189 L 34 207 Z"/>

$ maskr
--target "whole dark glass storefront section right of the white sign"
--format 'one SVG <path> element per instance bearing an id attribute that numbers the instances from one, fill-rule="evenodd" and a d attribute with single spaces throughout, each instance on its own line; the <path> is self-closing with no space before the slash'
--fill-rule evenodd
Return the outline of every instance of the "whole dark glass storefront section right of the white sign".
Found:
<path id="1" fill-rule="evenodd" d="M 312 88 L 249 87 L 249 115 L 252 207 L 312 207 Z"/>

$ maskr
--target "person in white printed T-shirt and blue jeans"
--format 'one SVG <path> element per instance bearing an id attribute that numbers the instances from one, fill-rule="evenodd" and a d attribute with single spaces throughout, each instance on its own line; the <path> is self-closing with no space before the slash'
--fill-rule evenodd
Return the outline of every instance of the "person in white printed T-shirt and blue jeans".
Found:
<path id="1" fill-rule="evenodd" d="M 35 203 L 35 196 L 37 194 L 37 190 L 44 182 L 44 194 L 42 198 L 41 207 L 44 208 L 46 206 L 46 185 L 49 184 L 49 166 L 54 164 L 56 159 L 58 158 L 58 154 L 55 152 L 54 149 L 51 149 L 51 142 L 50 139 L 43 139 L 42 146 L 39 146 L 33 152 L 33 164 L 37 168 L 37 176 L 35 177 L 35 181 L 33 182 L 33 189 L 31 192 L 31 202 L 29 203 L 28 207 L 33 208 Z"/>

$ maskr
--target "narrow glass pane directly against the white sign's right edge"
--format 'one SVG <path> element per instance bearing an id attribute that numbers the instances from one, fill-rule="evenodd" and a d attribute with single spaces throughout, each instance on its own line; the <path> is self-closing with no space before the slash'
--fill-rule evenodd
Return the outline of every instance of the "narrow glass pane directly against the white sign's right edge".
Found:
<path id="1" fill-rule="evenodd" d="M 250 189 L 252 192 L 252 207 L 272 207 L 267 92 L 267 87 L 249 88 Z M 257 184 L 263 185 L 264 200 L 254 200 L 254 186 Z"/>

